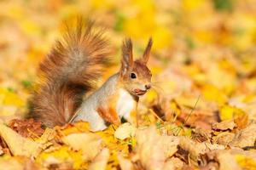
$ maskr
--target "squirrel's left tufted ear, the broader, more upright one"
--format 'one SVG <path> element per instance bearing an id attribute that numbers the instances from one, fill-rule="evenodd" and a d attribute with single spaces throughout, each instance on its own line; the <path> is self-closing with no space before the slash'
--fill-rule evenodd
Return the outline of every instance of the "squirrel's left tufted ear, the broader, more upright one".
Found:
<path id="1" fill-rule="evenodd" d="M 125 73 L 133 66 L 132 42 L 131 38 L 125 39 L 122 47 L 123 58 L 121 60 L 121 71 Z"/>

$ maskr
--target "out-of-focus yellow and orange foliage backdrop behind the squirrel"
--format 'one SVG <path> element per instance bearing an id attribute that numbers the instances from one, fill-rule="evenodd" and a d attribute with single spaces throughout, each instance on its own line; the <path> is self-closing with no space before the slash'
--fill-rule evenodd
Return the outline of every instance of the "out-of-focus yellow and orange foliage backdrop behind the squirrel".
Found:
<path id="1" fill-rule="evenodd" d="M 26 112 L 38 63 L 61 37 L 63 22 L 77 16 L 106 28 L 114 63 L 106 77 L 118 71 L 125 37 L 137 57 L 153 37 L 148 65 L 156 85 L 143 103 L 166 119 L 186 115 L 199 96 L 197 113 L 206 117 L 218 111 L 224 120 L 234 107 L 256 116 L 255 0 L 1 0 L 0 9 L 4 120 Z"/>

